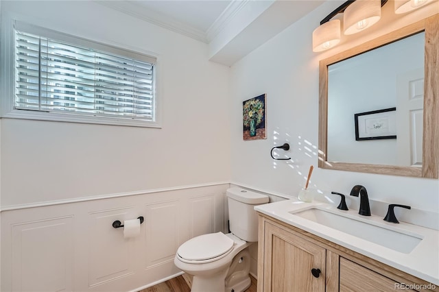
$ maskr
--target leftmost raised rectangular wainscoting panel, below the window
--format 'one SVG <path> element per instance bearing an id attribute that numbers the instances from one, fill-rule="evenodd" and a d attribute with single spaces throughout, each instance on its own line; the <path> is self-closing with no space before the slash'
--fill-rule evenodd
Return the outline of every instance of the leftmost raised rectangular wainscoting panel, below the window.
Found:
<path id="1" fill-rule="evenodd" d="M 72 222 L 70 216 L 11 226 L 12 291 L 73 290 Z"/>

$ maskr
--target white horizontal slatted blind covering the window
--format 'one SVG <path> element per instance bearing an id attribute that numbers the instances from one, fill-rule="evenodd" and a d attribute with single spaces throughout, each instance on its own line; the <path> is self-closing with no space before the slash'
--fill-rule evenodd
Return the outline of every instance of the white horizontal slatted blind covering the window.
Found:
<path id="1" fill-rule="evenodd" d="M 154 121 L 154 58 L 136 60 L 131 51 L 127 57 L 90 43 L 78 38 L 72 45 L 16 27 L 14 108 Z"/>

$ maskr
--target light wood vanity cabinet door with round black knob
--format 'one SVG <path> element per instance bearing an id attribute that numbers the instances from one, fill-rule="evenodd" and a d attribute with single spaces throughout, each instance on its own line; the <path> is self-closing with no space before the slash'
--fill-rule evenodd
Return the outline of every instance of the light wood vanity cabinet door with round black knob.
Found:
<path id="1" fill-rule="evenodd" d="M 325 291 L 324 247 L 269 222 L 265 222 L 264 236 L 264 292 Z M 318 278 L 311 269 L 320 269 Z"/>

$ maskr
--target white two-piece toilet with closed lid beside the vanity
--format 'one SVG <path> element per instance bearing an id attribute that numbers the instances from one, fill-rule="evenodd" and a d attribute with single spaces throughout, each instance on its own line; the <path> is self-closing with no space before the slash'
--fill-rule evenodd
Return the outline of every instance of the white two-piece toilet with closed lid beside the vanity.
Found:
<path id="1" fill-rule="evenodd" d="M 258 241 L 254 206 L 268 203 L 268 196 L 228 188 L 230 233 L 203 234 L 178 247 L 175 265 L 193 276 L 192 292 L 239 292 L 250 287 L 248 247 Z"/>

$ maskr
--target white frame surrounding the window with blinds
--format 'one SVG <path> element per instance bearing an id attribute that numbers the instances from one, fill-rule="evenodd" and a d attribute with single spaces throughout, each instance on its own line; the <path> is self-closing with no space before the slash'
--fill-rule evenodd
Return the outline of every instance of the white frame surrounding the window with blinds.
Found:
<path id="1" fill-rule="evenodd" d="M 154 53 L 144 52 L 140 49 L 128 49 L 120 45 L 110 45 L 108 42 L 97 42 L 95 40 L 89 40 L 86 38 L 73 36 L 71 34 L 65 34 L 64 32 L 57 32 L 45 27 L 38 27 L 18 21 L 15 19 L 10 19 L 7 23 L 2 23 L 3 32 L 1 32 L 1 47 L 0 47 L 0 63 L 4 64 L 2 66 L 0 74 L 3 76 L 1 78 L 0 86 L 3 88 L 0 90 L 1 93 L 1 118 L 11 118 L 11 119 L 31 119 L 40 121 L 61 121 L 61 122 L 71 122 L 71 123 L 90 123 L 99 125 L 122 125 L 122 126 L 133 126 L 133 127 L 156 127 L 161 128 L 161 100 L 158 97 L 158 75 L 160 74 L 158 56 Z M 130 54 L 136 56 L 141 55 L 145 58 L 155 59 L 154 62 L 154 121 L 146 121 L 142 119 L 134 118 L 123 118 L 123 117 L 108 117 L 99 116 L 98 114 L 75 114 L 73 112 L 44 112 L 44 111 L 34 111 L 34 110 L 23 110 L 14 108 L 15 104 L 15 31 L 14 27 L 16 24 L 21 25 L 21 27 L 32 26 L 31 34 L 35 32 L 45 32 L 45 34 L 38 34 L 43 36 L 49 36 L 59 41 L 71 42 L 75 45 L 82 45 L 92 43 L 95 44 L 93 49 L 100 49 L 105 51 L 106 48 L 111 49 L 109 53 L 114 53 L 115 51 L 126 52 L 125 56 L 130 56 Z M 58 36 L 58 38 L 57 38 Z M 59 39 L 61 38 L 61 39 Z M 75 42 L 78 40 L 78 42 Z"/>

